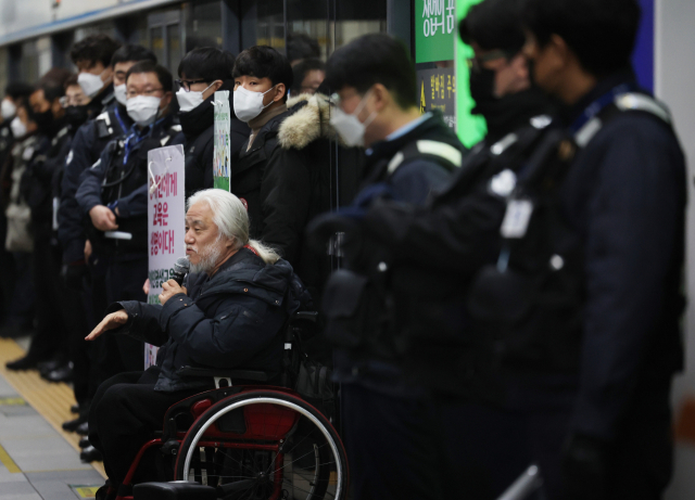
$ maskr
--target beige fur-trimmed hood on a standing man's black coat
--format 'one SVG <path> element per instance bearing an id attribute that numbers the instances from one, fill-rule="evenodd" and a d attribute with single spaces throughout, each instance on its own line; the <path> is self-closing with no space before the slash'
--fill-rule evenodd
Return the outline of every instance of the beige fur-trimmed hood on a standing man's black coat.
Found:
<path id="1" fill-rule="evenodd" d="M 336 140 L 336 129 L 330 125 L 330 103 L 326 95 L 303 93 L 287 102 L 290 115 L 278 130 L 280 146 L 285 150 L 303 150 L 316 139 Z M 342 143 L 342 141 L 340 141 Z"/>

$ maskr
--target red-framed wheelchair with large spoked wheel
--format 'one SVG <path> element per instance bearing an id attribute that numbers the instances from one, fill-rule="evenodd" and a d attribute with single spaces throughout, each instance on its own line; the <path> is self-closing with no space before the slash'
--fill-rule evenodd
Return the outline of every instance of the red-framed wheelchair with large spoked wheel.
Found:
<path id="1" fill-rule="evenodd" d="M 172 406 L 163 431 L 136 456 L 117 500 L 344 499 L 349 469 L 330 420 L 293 388 L 302 331 L 316 312 L 296 312 L 285 334 L 278 385 L 254 370 L 186 367 L 188 376 L 215 380 L 215 389 Z M 300 347 L 300 348 L 298 348 Z M 169 483 L 132 485 L 143 457 L 159 449 Z"/>

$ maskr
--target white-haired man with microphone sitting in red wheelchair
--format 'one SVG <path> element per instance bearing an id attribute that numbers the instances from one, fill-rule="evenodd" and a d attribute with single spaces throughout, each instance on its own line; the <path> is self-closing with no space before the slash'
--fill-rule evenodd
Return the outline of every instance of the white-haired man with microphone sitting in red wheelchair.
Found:
<path id="1" fill-rule="evenodd" d="M 164 283 L 161 305 L 112 305 L 87 336 L 161 346 L 155 367 L 112 377 L 92 402 L 89 441 L 109 476 L 97 498 L 137 483 L 137 498 L 344 498 L 340 438 L 290 387 L 307 296 L 292 267 L 249 240 L 243 204 L 222 190 L 189 198 L 186 254 L 185 286 Z M 169 479 L 188 483 L 141 484 Z"/>

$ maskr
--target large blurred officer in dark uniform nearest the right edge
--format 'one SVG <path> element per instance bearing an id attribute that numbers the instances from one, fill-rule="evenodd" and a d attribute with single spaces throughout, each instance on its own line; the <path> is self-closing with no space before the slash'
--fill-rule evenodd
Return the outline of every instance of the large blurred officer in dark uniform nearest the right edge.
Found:
<path id="1" fill-rule="evenodd" d="M 506 303 L 494 282 L 518 291 L 484 326 L 500 335 L 548 497 L 658 499 L 683 354 L 683 152 L 630 67 L 636 0 L 530 0 L 523 14 L 534 79 L 565 104 L 573 144 L 551 155 L 566 168 L 519 176 L 498 272 L 481 277 L 477 302 Z"/>

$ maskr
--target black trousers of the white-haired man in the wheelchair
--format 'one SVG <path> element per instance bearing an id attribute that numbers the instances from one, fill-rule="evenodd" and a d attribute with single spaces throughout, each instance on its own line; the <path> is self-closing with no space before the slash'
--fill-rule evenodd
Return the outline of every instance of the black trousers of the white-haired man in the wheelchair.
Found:
<path id="1" fill-rule="evenodd" d="M 166 410 L 174 403 L 202 392 L 154 390 L 160 370 L 121 373 L 97 390 L 89 410 L 89 443 L 102 452 L 104 470 L 113 485 L 119 485 L 130 465 L 155 431 L 162 430 Z M 143 463 L 137 482 L 156 480 L 156 469 Z"/>

